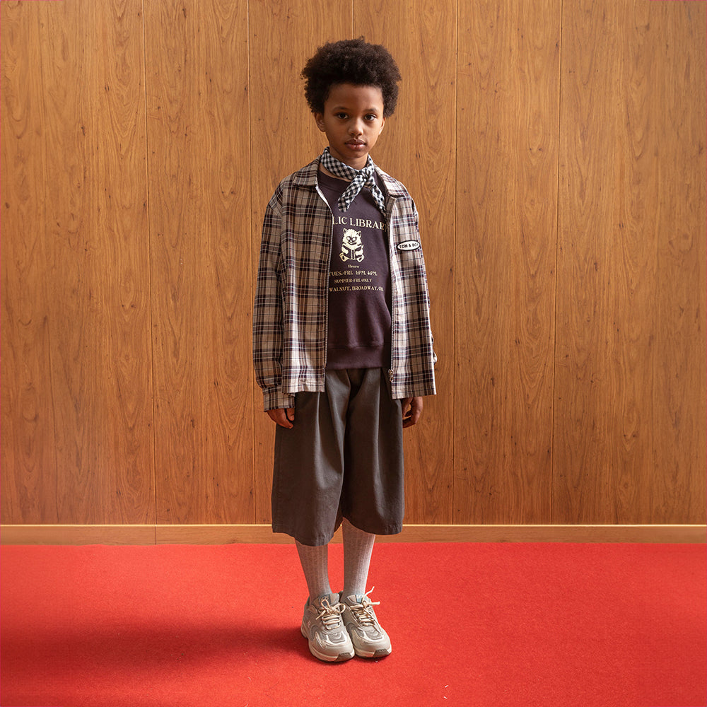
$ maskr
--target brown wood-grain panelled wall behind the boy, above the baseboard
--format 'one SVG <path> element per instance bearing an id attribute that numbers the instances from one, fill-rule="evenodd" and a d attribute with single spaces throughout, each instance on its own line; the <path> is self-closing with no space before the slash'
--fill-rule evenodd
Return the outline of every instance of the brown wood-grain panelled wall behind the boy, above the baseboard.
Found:
<path id="1" fill-rule="evenodd" d="M 264 206 L 301 66 L 387 45 L 438 396 L 407 521 L 705 516 L 705 4 L 3 1 L 2 517 L 262 523 Z"/>

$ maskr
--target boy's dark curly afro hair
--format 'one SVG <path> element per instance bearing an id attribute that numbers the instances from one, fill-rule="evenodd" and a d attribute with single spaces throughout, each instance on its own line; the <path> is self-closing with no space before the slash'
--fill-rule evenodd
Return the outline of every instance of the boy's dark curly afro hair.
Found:
<path id="1" fill-rule="evenodd" d="M 397 104 L 397 82 L 402 78 L 395 60 L 382 45 L 357 40 L 327 42 L 302 69 L 305 98 L 312 113 L 323 113 L 332 86 L 376 86 L 383 95 L 383 115 L 388 117 Z"/>

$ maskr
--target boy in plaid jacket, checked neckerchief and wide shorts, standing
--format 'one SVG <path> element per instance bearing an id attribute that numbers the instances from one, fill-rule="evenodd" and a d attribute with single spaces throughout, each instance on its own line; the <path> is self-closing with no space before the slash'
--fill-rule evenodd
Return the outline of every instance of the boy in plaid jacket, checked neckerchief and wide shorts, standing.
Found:
<path id="1" fill-rule="evenodd" d="M 272 527 L 294 537 L 312 655 L 391 651 L 366 592 L 375 534 L 402 529 L 402 428 L 434 395 L 425 267 L 414 202 L 369 156 L 397 102 L 385 47 L 324 45 L 302 71 L 329 146 L 286 177 L 264 218 L 253 359 L 277 425 Z M 343 525 L 344 590 L 327 545 Z"/>

